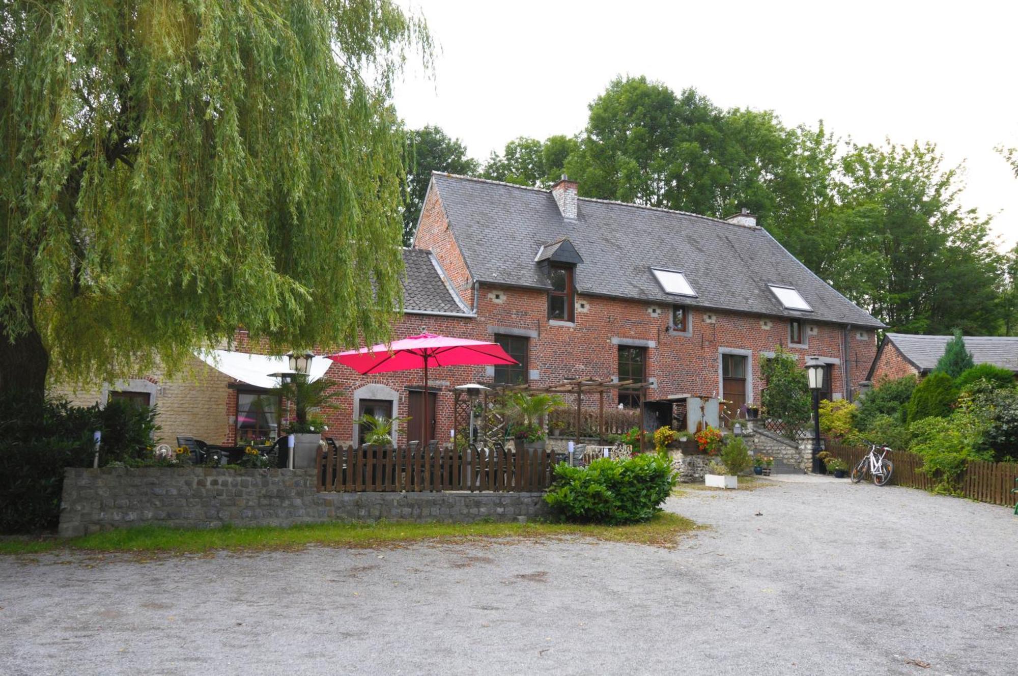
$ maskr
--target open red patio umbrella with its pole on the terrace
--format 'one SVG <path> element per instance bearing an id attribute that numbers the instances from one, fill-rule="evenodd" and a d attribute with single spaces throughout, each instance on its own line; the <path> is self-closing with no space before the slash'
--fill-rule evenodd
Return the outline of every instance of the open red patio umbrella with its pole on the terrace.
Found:
<path id="1" fill-rule="evenodd" d="M 329 358 L 350 367 L 359 374 L 381 374 L 391 371 L 425 371 L 425 414 L 420 419 L 420 441 L 428 439 L 428 370 L 434 367 L 499 365 L 519 363 L 498 343 L 466 338 L 450 338 L 422 333 L 373 347 L 330 354 Z"/>

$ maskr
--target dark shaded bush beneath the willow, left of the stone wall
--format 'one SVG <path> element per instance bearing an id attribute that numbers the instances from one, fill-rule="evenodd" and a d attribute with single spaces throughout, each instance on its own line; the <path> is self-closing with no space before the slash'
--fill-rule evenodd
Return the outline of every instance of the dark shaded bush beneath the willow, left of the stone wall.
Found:
<path id="1" fill-rule="evenodd" d="M 91 467 L 93 434 L 102 432 L 100 464 L 149 456 L 155 410 L 112 400 L 71 406 L 62 400 L 0 400 L 0 532 L 53 528 L 60 518 L 65 467 Z"/>

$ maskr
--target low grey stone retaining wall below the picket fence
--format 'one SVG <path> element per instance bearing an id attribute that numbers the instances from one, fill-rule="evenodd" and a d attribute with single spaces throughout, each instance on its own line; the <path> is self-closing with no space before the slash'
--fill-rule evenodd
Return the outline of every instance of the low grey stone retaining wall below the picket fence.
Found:
<path id="1" fill-rule="evenodd" d="M 314 469 L 68 468 L 59 531 L 70 538 L 142 524 L 510 521 L 549 513 L 541 493 L 318 493 Z"/>

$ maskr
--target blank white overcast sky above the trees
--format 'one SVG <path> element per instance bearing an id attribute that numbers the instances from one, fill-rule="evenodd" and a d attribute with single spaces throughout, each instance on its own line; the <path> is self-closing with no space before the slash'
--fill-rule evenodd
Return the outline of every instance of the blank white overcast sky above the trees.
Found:
<path id="1" fill-rule="evenodd" d="M 441 45 L 434 80 L 408 67 L 396 108 L 484 160 L 516 136 L 573 134 L 617 74 L 715 104 L 774 110 L 860 143 L 930 140 L 966 162 L 965 207 L 1018 240 L 1018 5 L 999 2 L 488 2 L 403 0 Z"/>

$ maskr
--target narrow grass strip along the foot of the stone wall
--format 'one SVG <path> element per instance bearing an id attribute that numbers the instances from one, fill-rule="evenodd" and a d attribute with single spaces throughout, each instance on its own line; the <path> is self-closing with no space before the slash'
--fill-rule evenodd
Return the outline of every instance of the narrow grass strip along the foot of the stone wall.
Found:
<path id="1" fill-rule="evenodd" d="M 645 523 L 582 525 L 575 523 L 408 523 L 395 521 L 310 523 L 221 528 L 169 528 L 144 525 L 71 540 L 11 539 L 0 542 L 2 554 L 53 551 L 126 552 L 135 554 L 202 554 L 217 550 L 298 550 L 325 547 L 380 547 L 414 542 L 462 543 L 492 539 L 556 539 L 580 536 L 602 541 L 674 547 L 679 536 L 696 528 L 684 516 L 661 512 Z"/>

